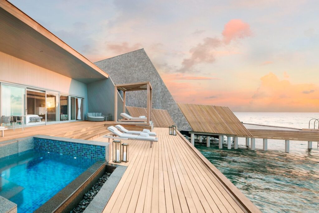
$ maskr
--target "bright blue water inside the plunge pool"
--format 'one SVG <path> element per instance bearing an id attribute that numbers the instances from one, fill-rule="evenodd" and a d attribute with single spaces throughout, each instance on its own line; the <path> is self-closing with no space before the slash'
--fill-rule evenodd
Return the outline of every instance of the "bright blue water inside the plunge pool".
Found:
<path id="1" fill-rule="evenodd" d="M 0 159 L 0 195 L 33 212 L 95 163 L 59 153 L 28 150 Z"/>

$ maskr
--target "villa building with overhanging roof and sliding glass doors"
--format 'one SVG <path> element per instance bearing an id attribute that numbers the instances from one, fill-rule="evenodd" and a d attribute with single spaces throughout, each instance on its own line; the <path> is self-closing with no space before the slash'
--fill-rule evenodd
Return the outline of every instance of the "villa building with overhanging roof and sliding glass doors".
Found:
<path id="1" fill-rule="evenodd" d="M 25 116 L 26 126 L 114 113 L 108 73 L 7 1 L 0 2 L 0 86 L 0 116 Z"/>

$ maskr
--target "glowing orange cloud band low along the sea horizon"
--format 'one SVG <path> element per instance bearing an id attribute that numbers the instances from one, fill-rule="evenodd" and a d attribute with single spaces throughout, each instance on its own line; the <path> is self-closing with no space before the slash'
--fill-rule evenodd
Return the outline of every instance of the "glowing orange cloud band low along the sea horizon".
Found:
<path id="1" fill-rule="evenodd" d="M 163 76 L 163 80 L 177 102 L 222 105 L 233 111 L 318 112 L 318 85 L 293 84 L 271 72 L 260 79 L 255 91 L 226 91 L 196 81 L 178 81 L 172 76 Z"/>

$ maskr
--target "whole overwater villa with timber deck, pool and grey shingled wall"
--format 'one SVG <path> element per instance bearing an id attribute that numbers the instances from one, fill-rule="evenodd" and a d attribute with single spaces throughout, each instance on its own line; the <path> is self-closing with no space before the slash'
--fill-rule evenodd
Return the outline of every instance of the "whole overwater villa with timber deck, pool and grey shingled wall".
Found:
<path id="1" fill-rule="evenodd" d="M 0 0 L 0 212 L 260 212 L 194 147 L 251 133 L 228 108 L 209 130 L 189 109 L 143 49 L 94 64 Z"/>

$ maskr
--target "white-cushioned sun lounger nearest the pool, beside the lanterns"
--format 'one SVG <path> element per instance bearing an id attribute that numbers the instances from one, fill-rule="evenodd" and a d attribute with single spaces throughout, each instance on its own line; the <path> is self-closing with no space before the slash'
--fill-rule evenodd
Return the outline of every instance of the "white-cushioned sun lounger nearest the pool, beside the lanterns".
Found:
<path id="1" fill-rule="evenodd" d="M 110 138 L 112 139 L 122 139 L 122 140 L 137 140 L 137 141 L 150 141 L 150 147 L 152 148 L 153 142 L 157 142 L 158 138 L 155 138 L 154 136 L 150 136 L 147 133 L 141 133 L 142 135 L 134 135 L 134 134 L 127 134 L 127 133 L 121 133 L 118 129 L 116 129 L 114 126 L 109 126 L 108 130 L 111 131 L 110 134 L 105 135 L 105 138 L 108 138 L 108 142 L 110 142 Z"/>

